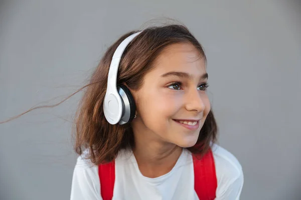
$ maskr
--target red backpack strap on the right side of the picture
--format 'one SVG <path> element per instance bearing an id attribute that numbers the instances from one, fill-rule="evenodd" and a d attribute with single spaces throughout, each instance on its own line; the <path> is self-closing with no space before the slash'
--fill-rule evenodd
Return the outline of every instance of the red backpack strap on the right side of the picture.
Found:
<path id="1" fill-rule="evenodd" d="M 211 200 L 216 197 L 217 178 L 213 152 L 211 149 L 198 159 L 193 154 L 195 191 L 201 200 Z"/>

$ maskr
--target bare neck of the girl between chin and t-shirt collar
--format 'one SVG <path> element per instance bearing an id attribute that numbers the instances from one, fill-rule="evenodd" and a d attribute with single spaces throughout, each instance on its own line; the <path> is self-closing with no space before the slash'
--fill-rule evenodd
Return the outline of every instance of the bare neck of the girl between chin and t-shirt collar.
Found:
<path id="1" fill-rule="evenodd" d="M 172 170 L 182 153 L 182 147 L 152 138 L 152 135 L 134 132 L 133 153 L 142 175 L 155 178 Z"/>

